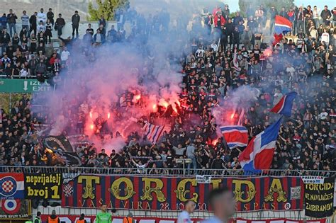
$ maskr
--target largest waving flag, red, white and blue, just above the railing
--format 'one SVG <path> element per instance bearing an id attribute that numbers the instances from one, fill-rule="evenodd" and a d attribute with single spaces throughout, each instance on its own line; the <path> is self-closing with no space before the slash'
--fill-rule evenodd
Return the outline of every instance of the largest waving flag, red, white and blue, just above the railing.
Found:
<path id="1" fill-rule="evenodd" d="M 281 118 L 253 137 L 239 155 L 240 165 L 245 171 L 269 169 L 281 126 Z"/>

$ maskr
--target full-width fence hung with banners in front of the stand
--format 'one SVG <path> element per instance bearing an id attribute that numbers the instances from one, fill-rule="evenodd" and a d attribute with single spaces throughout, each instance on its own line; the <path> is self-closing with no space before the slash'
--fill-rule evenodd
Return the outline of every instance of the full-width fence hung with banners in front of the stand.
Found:
<path id="1" fill-rule="evenodd" d="M 0 222 L 1 216 L 28 216 L 27 201 L 33 213 L 43 215 L 56 210 L 65 217 L 92 217 L 106 204 L 116 210 L 113 216 L 133 212 L 135 217 L 176 218 L 193 200 L 192 217 L 206 219 L 213 215 L 208 193 L 223 186 L 235 195 L 235 218 L 308 220 L 330 217 L 334 207 L 333 171 L 264 170 L 253 176 L 242 170 L 188 168 L 1 166 L 0 171 Z"/>

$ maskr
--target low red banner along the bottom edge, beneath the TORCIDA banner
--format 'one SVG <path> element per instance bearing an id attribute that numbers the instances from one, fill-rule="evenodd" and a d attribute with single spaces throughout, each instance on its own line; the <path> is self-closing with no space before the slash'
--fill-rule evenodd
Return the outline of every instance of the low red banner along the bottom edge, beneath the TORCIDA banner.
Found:
<path id="1" fill-rule="evenodd" d="M 47 221 L 48 215 L 42 215 L 42 221 Z M 58 215 L 60 217 L 61 222 L 64 223 L 75 223 L 78 216 L 75 215 Z M 94 223 L 96 216 L 86 216 L 85 217 L 87 223 Z M 177 218 L 159 218 L 159 217 L 134 217 L 135 221 L 138 223 L 176 223 Z M 192 222 L 198 223 L 202 222 L 203 219 L 191 219 Z M 123 217 L 113 217 L 112 223 L 122 223 Z M 315 219 L 315 220 L 292 220 L 285 218 L 278 219 L 262 219 L 262 220 L 250 220 L 250 219 L 230 219 L 230 223 L 325 223 L 326 219 Z"/>

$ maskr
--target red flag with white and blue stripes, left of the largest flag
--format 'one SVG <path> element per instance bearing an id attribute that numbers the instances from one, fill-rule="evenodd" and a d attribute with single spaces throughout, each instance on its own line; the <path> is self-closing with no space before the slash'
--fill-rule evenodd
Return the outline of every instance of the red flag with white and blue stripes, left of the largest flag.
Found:
<path id="1" fill-rule="evenodd" d="M 222 132 L 230 149 L 247 146 L 249 137 L 247 135 L 246 127 L 239 125 L 227 125 L 220 127 L 220 131 Z"/>

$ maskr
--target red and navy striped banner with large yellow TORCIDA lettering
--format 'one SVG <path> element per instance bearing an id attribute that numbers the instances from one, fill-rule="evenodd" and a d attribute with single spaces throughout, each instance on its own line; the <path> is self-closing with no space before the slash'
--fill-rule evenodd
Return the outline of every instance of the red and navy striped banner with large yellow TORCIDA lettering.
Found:
<path id="1" fill-rule="evenodd" d="M 147 178 L 80 175 L 62 186 L 62 207 L 101 207 L 131 210 L 184 210 L 194 200 L 196 210 L 208 210 L 207 198 L 213 188 L 226 185 L 233 190 L 237 211 L 300 210 L 303 183 L 298 177 Z"/>

